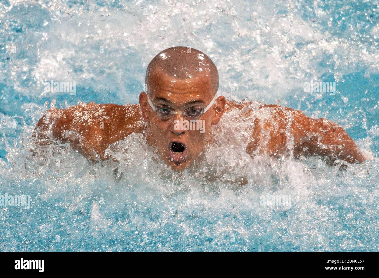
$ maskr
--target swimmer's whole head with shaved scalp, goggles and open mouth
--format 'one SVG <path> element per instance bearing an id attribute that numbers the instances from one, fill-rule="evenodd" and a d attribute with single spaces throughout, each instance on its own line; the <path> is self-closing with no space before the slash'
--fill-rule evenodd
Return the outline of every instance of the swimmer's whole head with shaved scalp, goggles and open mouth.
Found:
<path id="1" fill-rule="evenodd" d="M 167 165 L 183 169 L 210 139 L 211 126 L 224 113 L 225 98 L 215 99 L 218 71 L 199 50 L 171 47 L 147 67 L 147 92 L 139 96 L 147 122 L 147 140 L 158 147 Z"/>

